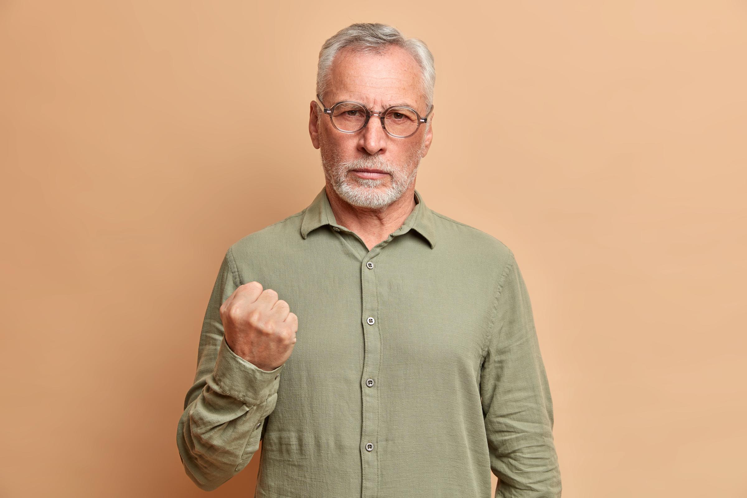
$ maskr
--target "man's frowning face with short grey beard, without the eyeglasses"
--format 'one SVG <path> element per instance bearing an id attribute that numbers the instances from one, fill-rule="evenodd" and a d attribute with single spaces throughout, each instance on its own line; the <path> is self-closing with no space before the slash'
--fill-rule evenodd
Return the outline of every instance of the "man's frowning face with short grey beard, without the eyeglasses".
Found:
<path id="1" fill-rule="evenodd" d="M 374 112 L 397 104 L 409 105 L 421 117 L 428 111 L 420 67 L 399 47 L 391 47 L 383 55 L 341 50 L 322 97 L 328 107 L 352 100 Z M 433 113 L 428 118 L 433 119 Z M 321 113 L 317 122 L 314 102 L 309 132 L 314 147 L 320 149 L 324 175 L 338 196 L 351 205 L 371 209 L 384 208 L 403 196 L 415 181 L 418 164 L 430 149 L 433 136 L 431 127 L 426 131 L 426 125 L 421 124 L 412 137 L 391 137 L 378 116 L 371 116 L 368 125 L 356 133 L 343 133 L 332 126 L 327 114 Z"/>

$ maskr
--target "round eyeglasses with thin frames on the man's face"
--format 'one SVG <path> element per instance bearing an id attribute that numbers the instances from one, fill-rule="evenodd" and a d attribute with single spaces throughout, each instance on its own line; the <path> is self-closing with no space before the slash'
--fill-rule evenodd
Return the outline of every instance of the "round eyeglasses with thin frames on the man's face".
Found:
<path id="1" fill-rule="evenodd" d="M 412 137 L 420 128 L 421 122 L 427 122 L 428 115 L 433 112 L 433 105 L 431 105 L 428 114 L 421 117 L 413 108 L 406 105 L 393 105 L 384 111 L 372 113 L 360 102 L 350 100 L 338 102 L 328 109 L 318 94 L 317 99 L 322 103 L 324 113 L 329 114 L 332 126 L 343 133 L 355 133 L 362 130 L 368 125 L 371 116 L 379 116 L 382 128 L 392 137 Z"/>

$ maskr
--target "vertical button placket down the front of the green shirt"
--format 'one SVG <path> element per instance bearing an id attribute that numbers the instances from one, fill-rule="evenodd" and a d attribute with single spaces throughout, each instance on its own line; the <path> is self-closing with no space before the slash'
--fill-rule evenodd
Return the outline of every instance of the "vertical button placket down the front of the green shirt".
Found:
<path id="1" fill-rule="evenodd" d="M 363 426 L 361 428 L 362 453 L 362 498 L 373 498 L 378 495 L 376 484 L 379 482 L 379 389 L 374 388 L 374 380 L 379 375 L 381 358 L 378 309 L 376 308 L 376 272 L 373 261 L 370 261 L 379 249 L 368 253 L 368 260 L 361 265 L 362 311 L 364 361 L 362 385 Z"/>

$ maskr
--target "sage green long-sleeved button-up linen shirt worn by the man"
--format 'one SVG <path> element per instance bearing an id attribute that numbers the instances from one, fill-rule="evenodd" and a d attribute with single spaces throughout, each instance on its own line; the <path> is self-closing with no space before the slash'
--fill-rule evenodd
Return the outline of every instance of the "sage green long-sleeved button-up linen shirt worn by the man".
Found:
<path id="1" fill-rule="evenodd" d="M 262 441 L 257 498 L 560 497 L 553 408 L 513 252 L 415 208 L 367 249 L 311 205 L 226 251 L 199 338 L 177 446 L 214 490 Z M 371 264 L 369 264 L 369 262 Z M 236 355 L 220 305 L 260 282 L 298 316 L 275 370 Z"/>

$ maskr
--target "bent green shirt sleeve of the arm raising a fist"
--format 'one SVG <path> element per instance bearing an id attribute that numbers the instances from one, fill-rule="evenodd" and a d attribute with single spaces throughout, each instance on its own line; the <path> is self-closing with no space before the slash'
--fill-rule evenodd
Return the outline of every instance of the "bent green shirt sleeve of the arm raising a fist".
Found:
<path id="1" fill-rule="evenodd" d="M 261 370 L 226 343 L 220 305 L 239 286 L 238 280 L 229 248 L 205 311 L 197 371 L 176 431 L 187 476 L 205 491 L 243 470 L 259 448 L 264 420 L 275 409 L 283 367 Z"/>

